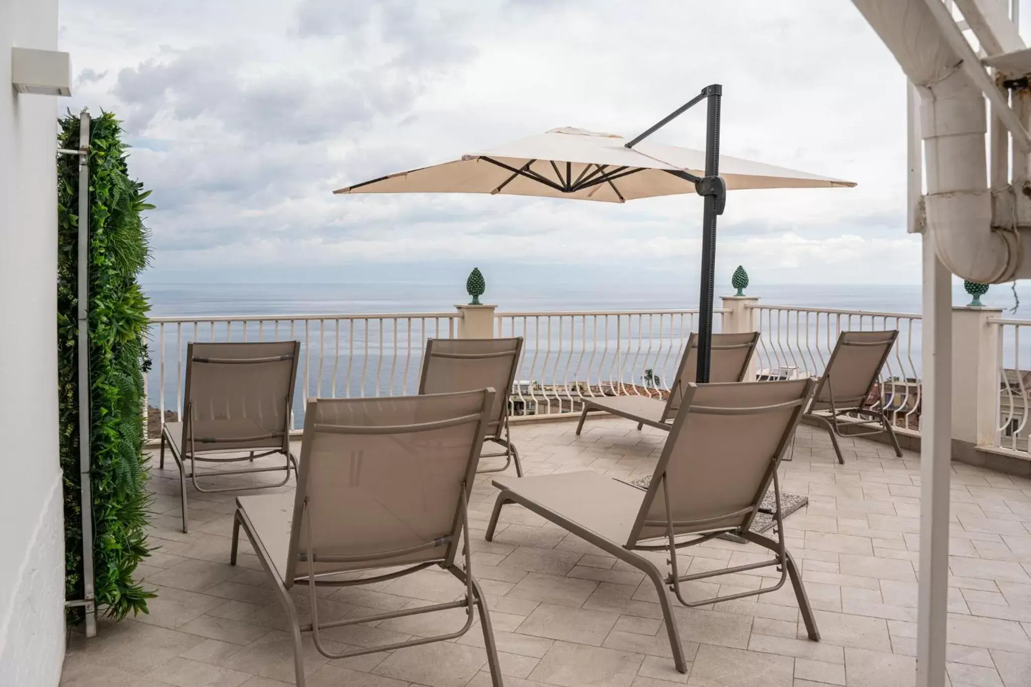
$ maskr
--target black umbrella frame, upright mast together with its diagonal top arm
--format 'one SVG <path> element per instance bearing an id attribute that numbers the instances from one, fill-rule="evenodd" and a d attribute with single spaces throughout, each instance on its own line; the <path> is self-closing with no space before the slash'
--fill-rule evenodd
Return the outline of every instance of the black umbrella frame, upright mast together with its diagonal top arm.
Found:
<path id="1" fill-rule="evenodd" d="M 727 183 L 720 176 L 720 101 L 722 98 L 723 87 L 721 84 L 706 85 L 697 96 L 626 143 L 628 148 L 634 147 L 702 100 L 707 101 L 705 176 L 698 177 L 683 170 L 666 170 L 673 176 L 694 182 L 695 192 L 705 198 L 705 206 L 702 211 L 702 283 L 699 289 L 700 302 L 698 304 L 698 372 L 695 376 L 695 379 L 700 383 L 708 381 L 711 357 L 712 299 L 716 290 L 716 219 L 723 214 L 727 205 Z"/>

